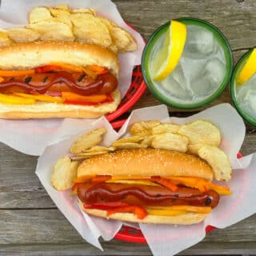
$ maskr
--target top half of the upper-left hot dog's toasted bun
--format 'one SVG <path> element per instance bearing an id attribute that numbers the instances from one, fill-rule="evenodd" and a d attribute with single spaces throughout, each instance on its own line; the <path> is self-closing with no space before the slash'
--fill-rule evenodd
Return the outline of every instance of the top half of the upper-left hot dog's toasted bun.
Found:
<path id="1" fill-rule="evenodd" d="M 0 49 L 0 69 L 26 70 L 51 62 L 107 67 L 118 77 L 118 57 L 101 46 L 78 42 L 24 42 Z"/>

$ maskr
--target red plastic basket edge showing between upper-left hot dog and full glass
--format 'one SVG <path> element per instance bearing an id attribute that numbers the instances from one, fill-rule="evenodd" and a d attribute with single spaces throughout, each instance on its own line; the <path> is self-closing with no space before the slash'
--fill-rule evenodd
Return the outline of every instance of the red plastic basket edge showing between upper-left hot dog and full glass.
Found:
<path id="1" fill-rule="evenodd" d="M 130 88 L 127 90 L 126 95 L 122 98 L 121 103 L 118 106 L 118 109 L 113 113 L 108 114 L 106 119 L 111 122 L 112 120 L 118 118 L 122 114 L 126 113 L 138 99 L 142 97 L 142 94 L 146 90 L 146 83 L 143 80 L 141 66 L 135 66 L 132 75 L 132 81 Z"/>

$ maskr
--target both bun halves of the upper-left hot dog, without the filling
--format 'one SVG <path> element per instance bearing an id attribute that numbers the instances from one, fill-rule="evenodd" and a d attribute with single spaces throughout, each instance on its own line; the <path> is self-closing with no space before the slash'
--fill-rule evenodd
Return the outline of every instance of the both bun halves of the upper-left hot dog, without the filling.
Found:
<path id="1" fill-rule="evenodd" d="M 75 66 L 103 66 L 118 78 L 118 57 L 102 46 L 78 42 L 26 42 L 0 49 L 0 69 L 29 70 L 52 62 Z M 118 90 L 112 93 L 113 102 L 95 106 L 36 102 L 32 105 L 0 103 L 0 118 L 98 118 L 114 112 L 121 102 Z"/>

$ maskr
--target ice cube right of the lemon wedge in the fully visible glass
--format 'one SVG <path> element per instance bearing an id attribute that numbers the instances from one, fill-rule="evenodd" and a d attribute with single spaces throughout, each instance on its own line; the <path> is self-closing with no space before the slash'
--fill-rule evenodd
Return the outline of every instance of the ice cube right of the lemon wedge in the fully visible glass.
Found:
<path id="1" fill-rule="evenodd" d="M 205 58 L 214 52 L 218 42 L 214 34 L 202 26 L 187 26 L 186 44 L 183 56 L 187 58 Z"/>

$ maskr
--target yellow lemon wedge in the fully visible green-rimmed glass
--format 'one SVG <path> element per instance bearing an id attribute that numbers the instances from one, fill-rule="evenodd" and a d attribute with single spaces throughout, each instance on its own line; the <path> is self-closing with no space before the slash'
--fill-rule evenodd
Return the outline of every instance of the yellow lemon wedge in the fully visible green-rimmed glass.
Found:
<path id="1" fill-rule="evenodd" d="M 186 25 L 171 21 L 165 42 L 154 58 L 154 80 L 162 81 L 177 66 L 186 42 Z"/>

